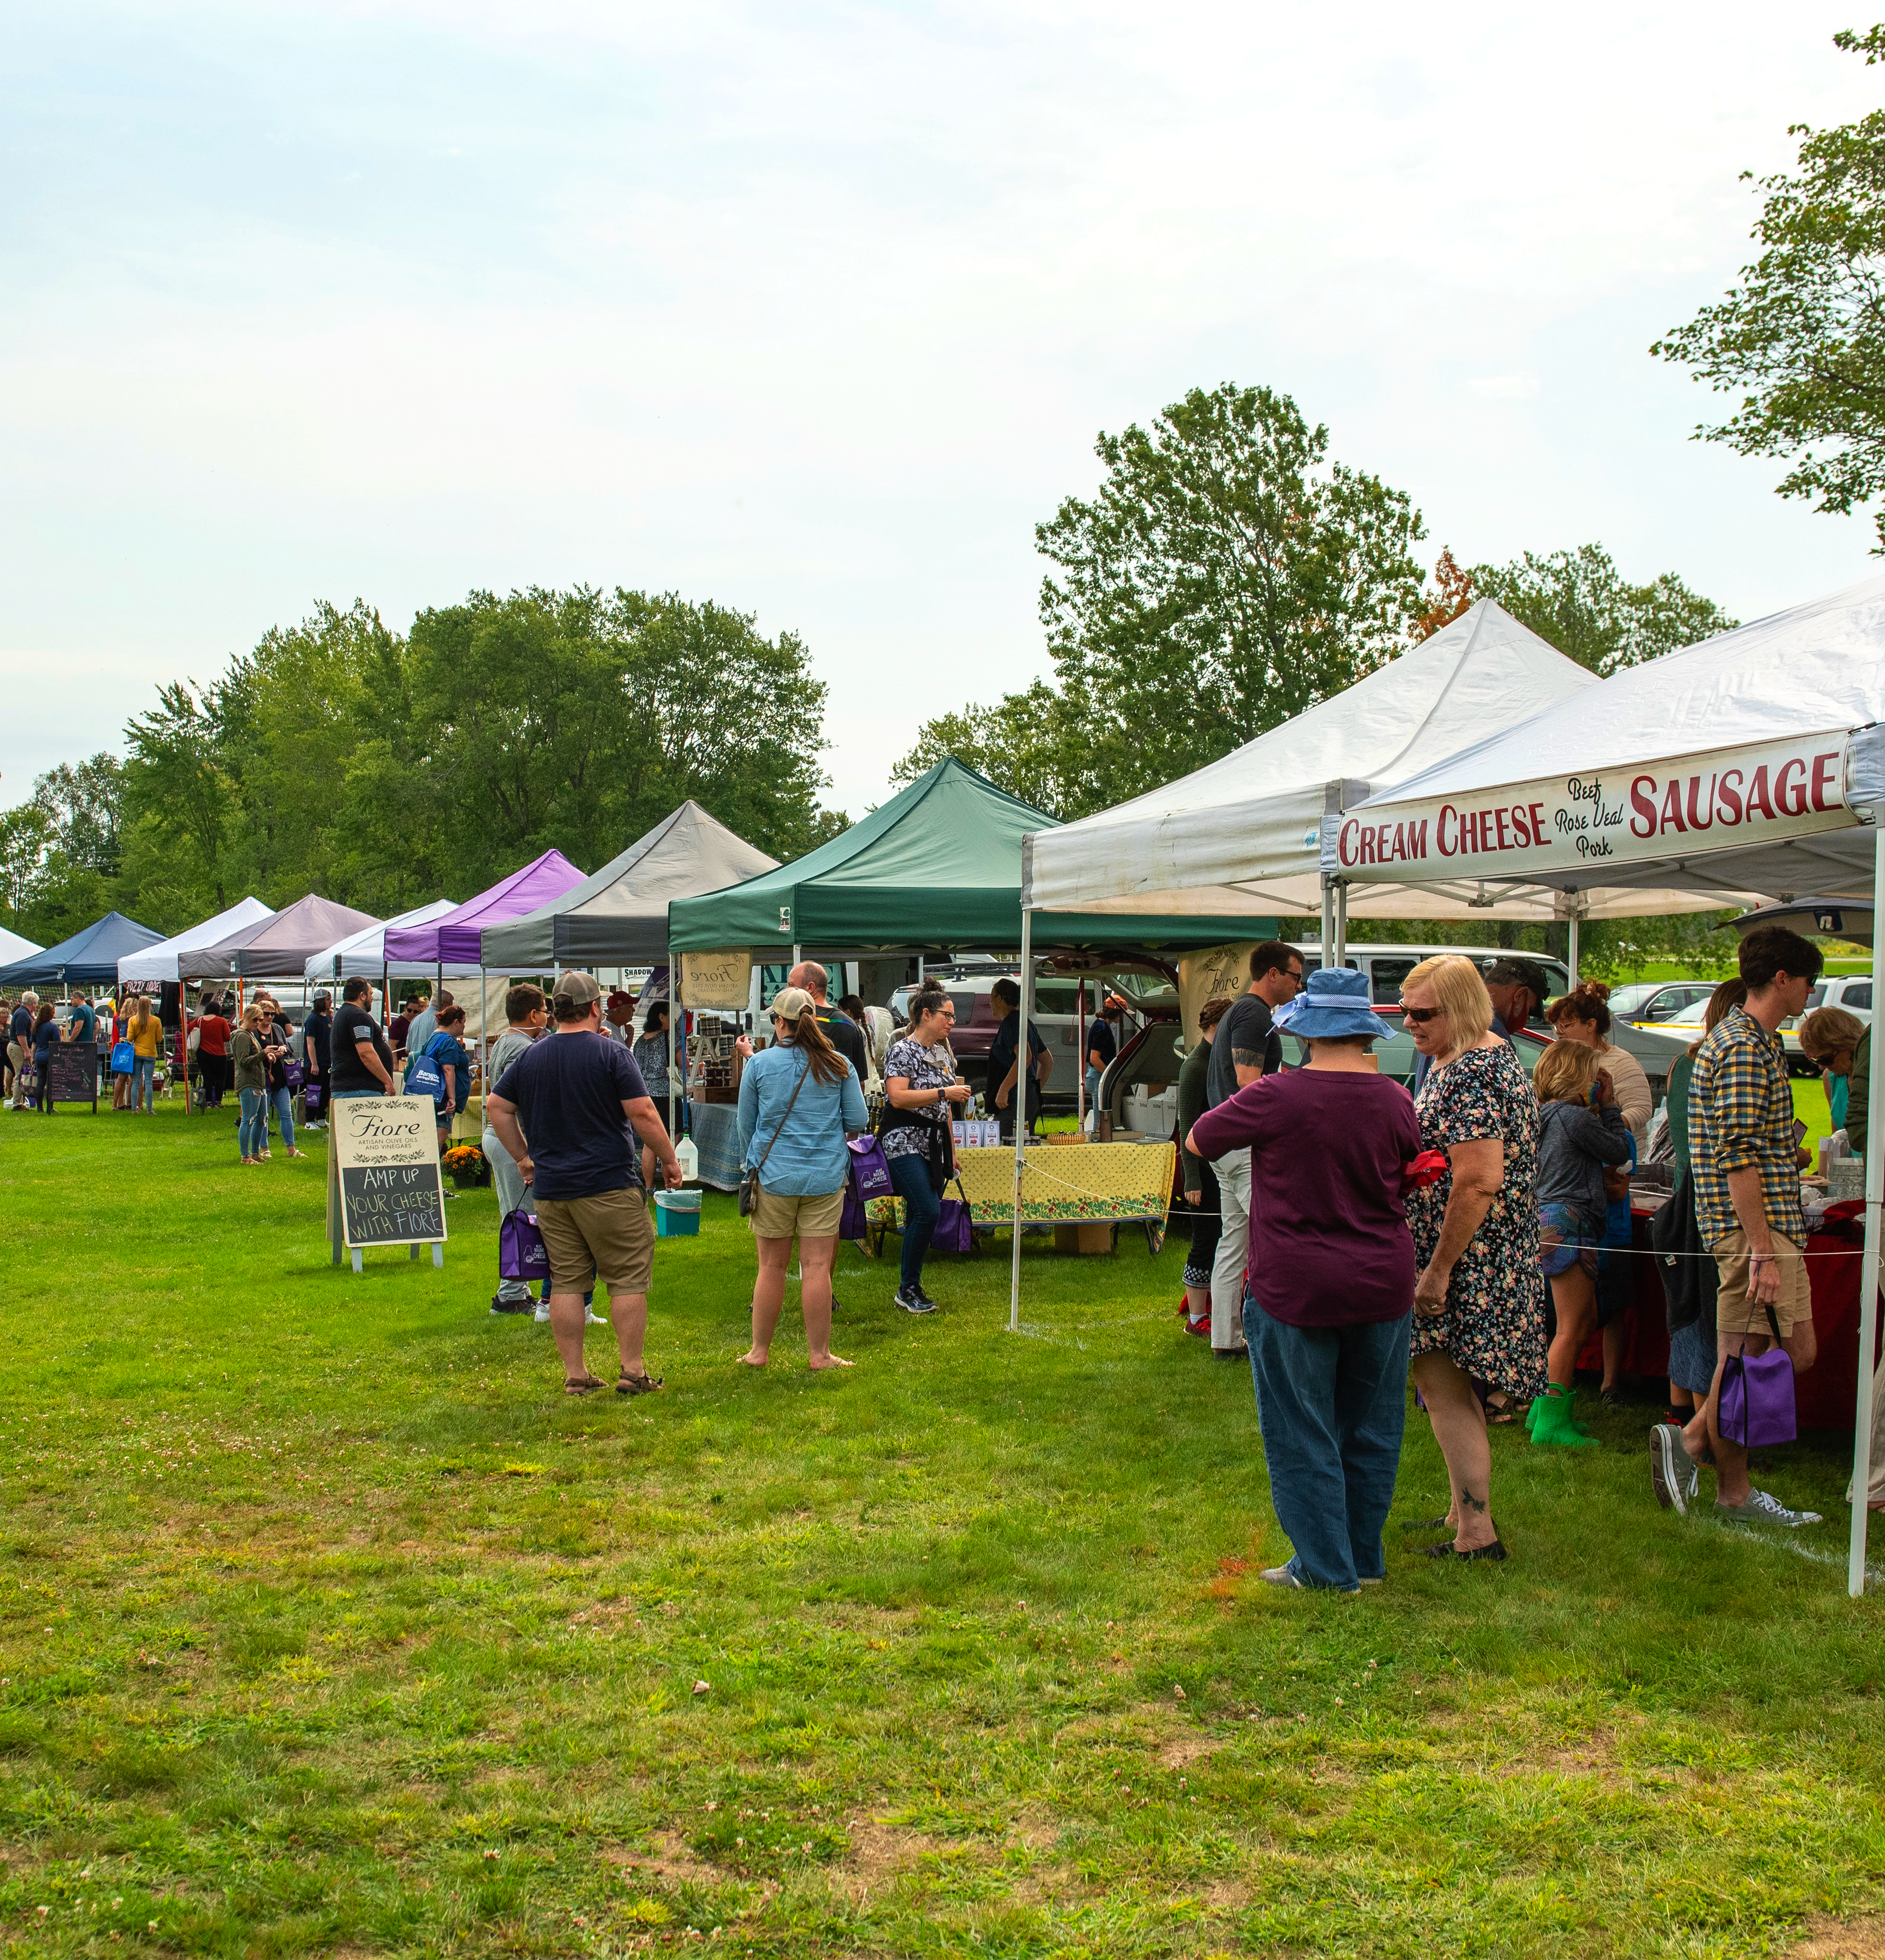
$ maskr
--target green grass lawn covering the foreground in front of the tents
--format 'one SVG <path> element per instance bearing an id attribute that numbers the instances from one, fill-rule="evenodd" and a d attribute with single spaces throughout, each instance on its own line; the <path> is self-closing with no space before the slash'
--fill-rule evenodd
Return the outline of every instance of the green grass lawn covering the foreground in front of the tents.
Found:
<path id="1" fill-rule="evenodd" d="M 8 1113 L 0 1174 L 14 1950 L 1716 1956 L 1885 1889 L 1840 1439 L 1767 1539 L 1656 1509 L 1648 1392 L 1499 1431 L 1513 1562 L 1448 1570 L 1417 1415 L 1387 1584 L 1278 1593 L 1176 1243 L 1031 1239 L 1019 1339 L 1005 1239 L 931 1321 L 846 1249 L 856 1368 L 754 1376 L 709 1200 L 666 1390 L 570 1401 L 490 1194 L 357 1278 L 233 1115 Z"/>

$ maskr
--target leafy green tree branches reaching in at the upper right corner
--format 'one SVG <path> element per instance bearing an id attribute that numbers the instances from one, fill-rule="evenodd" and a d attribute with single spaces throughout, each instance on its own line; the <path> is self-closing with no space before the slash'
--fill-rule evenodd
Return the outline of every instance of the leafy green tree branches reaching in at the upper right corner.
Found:
<path id="1" fill-rule="evenodd" d="M 1885 27 L 1836 33 L 1871 65 Z M 1760 178 L 1760 257 L 1650 349 L 1740 406 L 1697 437 L 1789 465 L 1781 496 L 1850 515 L 1885 492 L 1885 110 L 1811 129 L 1799 167 Z M 1752 172 L 1748 172 L 1752 174 Z M 1875 519 L 1885 553 L 1885 512 Z"/>

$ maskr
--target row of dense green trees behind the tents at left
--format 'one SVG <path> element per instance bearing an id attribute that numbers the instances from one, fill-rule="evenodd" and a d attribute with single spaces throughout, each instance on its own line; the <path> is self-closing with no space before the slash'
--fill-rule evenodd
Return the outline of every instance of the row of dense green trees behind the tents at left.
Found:
<path id="1" fill-rule="evenodd" d="M 319 606 L 161 688 L 121 757 L 39 776 L 0 815 L 4 917 L 43 945 L 245 892 L 390 917 L 551 847 L 596 870 L 690 796 L 798 857 L 846 821 L 819 804 L 825 696 L 796 633 L 674 594 L 472 592 L 404 635 Z"/>

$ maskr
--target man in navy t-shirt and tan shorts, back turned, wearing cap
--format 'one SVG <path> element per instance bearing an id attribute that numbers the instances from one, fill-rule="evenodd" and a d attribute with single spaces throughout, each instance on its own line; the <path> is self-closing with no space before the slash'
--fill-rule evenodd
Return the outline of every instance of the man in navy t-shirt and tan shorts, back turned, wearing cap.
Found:
<path id="1" fill-rule="evenodd" d="M 604 1384 L 582 1358 L 582 1294 L 594 1274 L 609 1294 L 621 1350 L 617 1396 L 645 1396 L 660 1382 L 643 1366 L 654 1227 L 641 1194 L 637 1135 L 660 1160 L 668 1190 L 680 1158 L 635 1058 L 602 1033 L 602 988 L 564 974 L 551 994 L 555 1033 L 504 1070 L 484 1102 L 498 1141 L 533 1188 L 537 1229 L 551 1256 L 551 1333 L 562 1354 L 564 1392 Z"/>

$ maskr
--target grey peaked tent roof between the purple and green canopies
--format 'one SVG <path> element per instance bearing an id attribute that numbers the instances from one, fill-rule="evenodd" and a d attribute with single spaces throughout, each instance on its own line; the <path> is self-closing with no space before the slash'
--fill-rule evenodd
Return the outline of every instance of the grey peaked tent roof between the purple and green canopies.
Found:
<path id="1" fill-rule="evenodd" d="M 668 955 L 668 902 L 719 892 L 776 870 L 692 798 L 560 898 L 480 933 L 480 958 L 500 972 L 551 966 L 635 966 Z"/>

